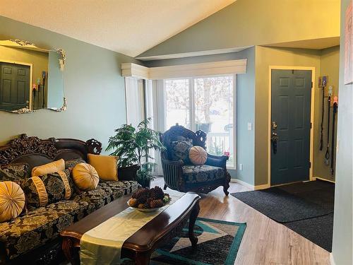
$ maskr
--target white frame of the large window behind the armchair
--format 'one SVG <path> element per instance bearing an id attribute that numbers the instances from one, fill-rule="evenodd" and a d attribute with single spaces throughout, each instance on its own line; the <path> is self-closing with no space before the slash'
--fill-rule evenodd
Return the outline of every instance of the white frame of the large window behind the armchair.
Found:
<path id="1" fill-rule="evenodd" d="M 195 131 L 196 122 L 195 122 L 195 82 L 194 80 L 197 78 L 210 78 L 210 77 L 222 77 L 222 76 L 232 76 L 233 77 L 233 152 L 234 152 L 234 165 L 227 165 L 227 169 L 229 170 L 237 170 L 237 73 L 225 73 L 225 74 L 217 74 L 217 75 L 208 75 L 208 76 L 192 76 L 192 77 L 184 77 L 184 78 L 165 78 L 163 79 L 163 109 L 164 113 L 166 110 L 166 98 L 165 98 L 165 84 L 168 80 L 188 80 L 189 81 L 189 119 L 190 119 L 190 129 L 191 131 Z M 167 124 L 167 115 L 163 115 L 164 122 L 163 124 Z"/>

